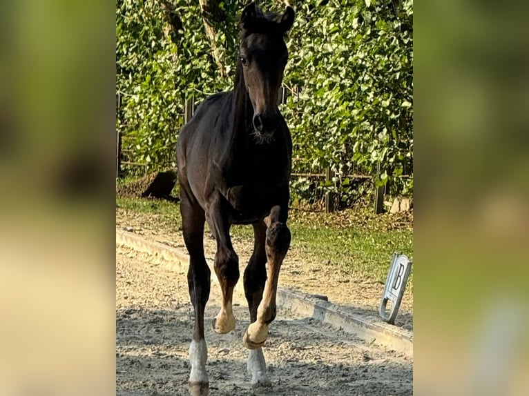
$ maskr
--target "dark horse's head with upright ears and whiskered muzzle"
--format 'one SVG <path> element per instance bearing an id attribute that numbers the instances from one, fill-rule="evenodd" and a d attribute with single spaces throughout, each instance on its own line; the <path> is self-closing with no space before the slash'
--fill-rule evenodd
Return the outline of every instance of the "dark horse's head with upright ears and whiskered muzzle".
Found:
<path id="1" fill-rule="evenodd" d="M 290 6 L 282 14 L 263 14 L 256 3 L 250 3 L 240 17 L 239 61 L 258 135 L 271 135 L 278 127 L 278 90 L 289 55 L 284 37 L 293 23 Z"/>

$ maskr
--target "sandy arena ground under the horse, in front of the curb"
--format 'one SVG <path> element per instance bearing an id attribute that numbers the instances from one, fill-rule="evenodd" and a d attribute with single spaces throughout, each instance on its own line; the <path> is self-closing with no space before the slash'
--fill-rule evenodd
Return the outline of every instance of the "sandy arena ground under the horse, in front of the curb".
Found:
<path id="1" fill-rule="evenodd" d="M 168 270 L 160 260 L 116 248 L 117 395 L 188 394 L 193 308 L 184 272 Z M 219 301 L 213 284 L 206 318 L 216 315 Z M 249 313 L 240 297 L 234 302 L 233 332 L 217 335 L 206 328 L 212 396 L 252 393 L 242 346 Z M 264 355 L 273 384 L 267 395 L 412 394 L 412 359 L 285 309 L 271 325 Z"/>

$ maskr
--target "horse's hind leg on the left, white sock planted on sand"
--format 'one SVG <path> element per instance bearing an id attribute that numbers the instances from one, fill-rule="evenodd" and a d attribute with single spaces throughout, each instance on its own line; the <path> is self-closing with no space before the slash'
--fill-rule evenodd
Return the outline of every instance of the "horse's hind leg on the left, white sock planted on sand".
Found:
<path id="1" fill-rule="evenodd" d="M 185 192 L 180 194 L 180 199 L 182 231 L 189 252 L 187 282 L 195 310 L 193 340 L 189 346 L 189 393 L 191 396 L 206 396 L 209 393 L 209 381 L 206 373 L 208 352 L 204 339 L 204 308 L 209 299 L 211 271 L 204 257 L 204 210 L 198 204 L 193 204 Z"/>

